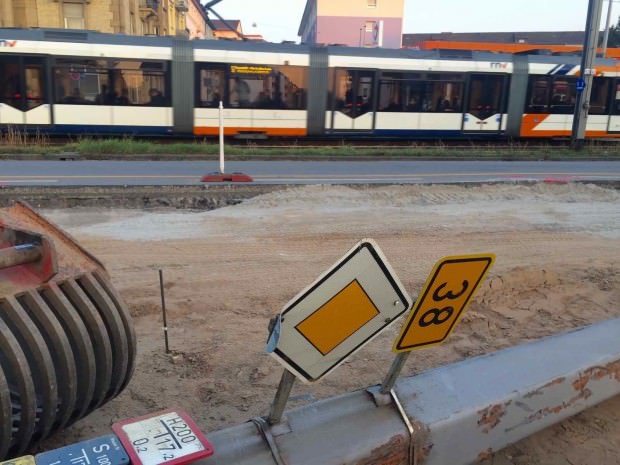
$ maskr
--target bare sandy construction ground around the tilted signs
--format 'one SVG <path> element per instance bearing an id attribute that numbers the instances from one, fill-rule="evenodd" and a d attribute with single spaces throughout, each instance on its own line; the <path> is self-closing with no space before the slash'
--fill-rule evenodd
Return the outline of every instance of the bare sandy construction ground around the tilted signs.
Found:
<path id="1" fill-rule="evenodd" d="M 289 188 L 209 212 L 44 212 L 108 267 L 138 333 L 127 390 L 44 447 L 109 432 L 170 406 L 205 431 L 268 412 L 282 373 L 265 353 L 282 305 L 356 241 L 375 239 L 412 295 L 446 255 L 497 261 L 442 346 L 405 374 L 620 317 L 620 193 L 584 184 Z M 163 269 L 174 360 L 164 355 Z M 377 384 L 399 324 L 290 407 Z M 499 452 L 488 463 L 620 464 L 620 398 Z"/>

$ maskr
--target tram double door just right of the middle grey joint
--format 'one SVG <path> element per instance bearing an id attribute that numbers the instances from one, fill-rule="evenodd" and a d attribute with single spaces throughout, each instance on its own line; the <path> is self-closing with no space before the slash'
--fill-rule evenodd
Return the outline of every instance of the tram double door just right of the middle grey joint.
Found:
<path id="1" fill-rule="evenodd" d="M 371 132 L 374 128 L 374 71 L 336 70 L 332 129 Z"/>

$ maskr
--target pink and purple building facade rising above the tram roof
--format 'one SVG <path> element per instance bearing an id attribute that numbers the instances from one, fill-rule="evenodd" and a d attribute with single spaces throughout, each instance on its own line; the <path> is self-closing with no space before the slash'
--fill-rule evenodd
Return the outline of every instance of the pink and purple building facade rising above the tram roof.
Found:
<path id="1" fill-rule="evenodd" d="M 400 48 L 404 0 L 308 0 L 298 35 L 306 44 Z"/>

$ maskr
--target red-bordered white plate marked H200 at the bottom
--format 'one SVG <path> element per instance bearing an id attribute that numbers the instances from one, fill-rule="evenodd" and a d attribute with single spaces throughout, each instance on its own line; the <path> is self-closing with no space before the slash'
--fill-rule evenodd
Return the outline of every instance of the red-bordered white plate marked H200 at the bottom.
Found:
<path id="1" fill-rule="evenodd" d="M 132 465 L 183 465 L 213 455 L 213 446 L 183 410 L 169 409 L 112 425 Z"/>

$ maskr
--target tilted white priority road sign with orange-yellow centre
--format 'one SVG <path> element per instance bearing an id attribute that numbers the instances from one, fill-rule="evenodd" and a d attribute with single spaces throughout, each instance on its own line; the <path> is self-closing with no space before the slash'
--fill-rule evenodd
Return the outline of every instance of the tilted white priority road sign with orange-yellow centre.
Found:
<path id="1" fill-rule="evenodd" d="M 363 240 L 285 305 L 267 350 L 298 378 L 317 381 L 409 308 L 377 244 Z"/>

